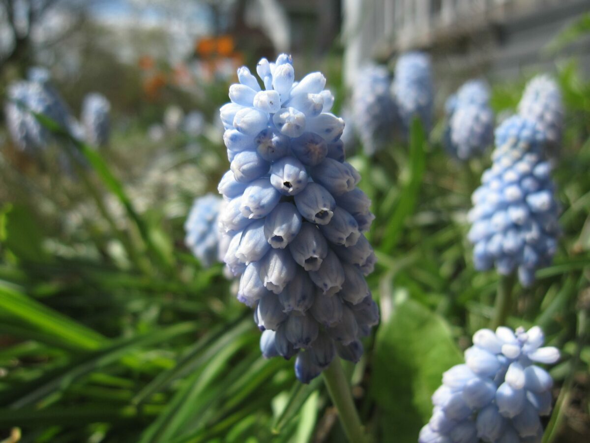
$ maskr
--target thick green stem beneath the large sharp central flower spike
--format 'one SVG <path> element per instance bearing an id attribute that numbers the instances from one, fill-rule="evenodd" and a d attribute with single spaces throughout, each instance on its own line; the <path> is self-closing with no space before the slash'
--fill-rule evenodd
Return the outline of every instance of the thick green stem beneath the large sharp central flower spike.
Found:
<path id="1" fill-rule="evenodd" d="M 338 410 L 346 437 L 350 443 L 365 443 L 364 429 L 356 412 L 355 403 L 352 401 L 350 385 L 342 370 L 340 359 L 338 357 L 333 359 L 322 374 L 332 403 Z"/>

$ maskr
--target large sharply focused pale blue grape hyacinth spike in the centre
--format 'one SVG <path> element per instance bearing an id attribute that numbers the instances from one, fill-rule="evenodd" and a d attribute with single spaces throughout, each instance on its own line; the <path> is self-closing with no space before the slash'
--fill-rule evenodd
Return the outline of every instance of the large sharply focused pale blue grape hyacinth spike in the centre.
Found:
<path id="1" fill-rule="evenodd" d="M 219 183 L 224 261 L 238 299 L 255 309 L 264 356 L 297 356 L 307 383 L 338 354 L 358 361 L 360 337 L 378 323 L 365 275 L 375 254 L 363 232 L 371 202 L 345 161 L 344 121 L 314 72 L 295 80 L 291 57 L 238 69 L 222 106 L 231 166 Z"/>

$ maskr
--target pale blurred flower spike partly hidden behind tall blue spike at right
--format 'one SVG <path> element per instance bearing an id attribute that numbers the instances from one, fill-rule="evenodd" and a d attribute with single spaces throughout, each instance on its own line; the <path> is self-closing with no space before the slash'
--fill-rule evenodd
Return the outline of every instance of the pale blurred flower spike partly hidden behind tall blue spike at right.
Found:
<path id="1" fill-rule="evenodd" d="M 518 111 L 520 116 L 539 123 L 550 148 L 559 148 L 563 132 L 563 102 L 555 80 L 547 75 L 533 77 L 526 85 Z"/>

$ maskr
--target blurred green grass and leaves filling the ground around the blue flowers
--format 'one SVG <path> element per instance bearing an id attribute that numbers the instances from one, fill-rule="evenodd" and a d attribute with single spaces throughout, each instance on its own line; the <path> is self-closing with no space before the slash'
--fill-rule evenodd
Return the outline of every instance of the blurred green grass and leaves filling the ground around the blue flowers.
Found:
<path id="1" fill-rule="evenodd" d="M 139 72 L 119 73 L 91 38 L 87 44 L 96 73 L 88 81 L 104 81 L 96 84 L 111 98 L 123 94 L 117 112 L 136 109 Z M 326 63 L 342 91 L 339 57 Z M 120 75 L 122 89 L 108 89 Z M 546 441 L 577 442 L 590 431 L 590 83 L 575 61 L 558 67 L 558 80 L 567 108 L 554 171 L 563 236 L 536 284 L 517 286 L 508 324 L 538 324 L 563 350 Z M 494 110 L 516 108 L 524 83 L 493 83 Z M 89 87 L 71 89 L 70 103 Z M 146 131 L 166 102 L 211 118 L 227 83 L 209 89 L 200 101 L 166 92 L 116 123 L 103 151 L 61 133 L 43 164 L 2 152 L 3 434 L 20 428 L 23 442 L 343 441 L 321 380 L 303 386 L 292 361 L 264 360 L 251 311 L 235 300 L 221 266 L 202 269 L 183 247 L 192 199 L 215 190 L 227 169 L 221 132 L 211 123 L 202 135 L 169 132 L 159 142 Z M 414 125 L 408 145 L 350 158 L 376 214 L 378 265 L 368 281 L 382 323 L 362 361 L 346 367 L 373 441 L 416 441 L 442 372 L 493 312 L 498 277 L 474 270 L 466 240 L 470 196 L 489 155 L 459 164 L 436 134 L 428 141 Z M 58 152 L 83 155 L 86 165 L 74 162 L 65 175 Z"/>

